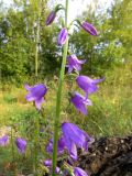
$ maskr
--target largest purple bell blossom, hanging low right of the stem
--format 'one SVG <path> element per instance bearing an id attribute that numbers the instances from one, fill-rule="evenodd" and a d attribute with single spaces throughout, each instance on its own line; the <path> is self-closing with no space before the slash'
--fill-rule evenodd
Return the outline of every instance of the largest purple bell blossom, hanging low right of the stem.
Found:
<path id="1" fill-rule="evenodd" d="M 62 131 L 65 139 L 65 145 L 72 158 L 77 160 L 77 147 L 88 151 L 88 143 L 91 142 L 92 139 L 77 125 L 64 122 L 62 124 Z"/>

